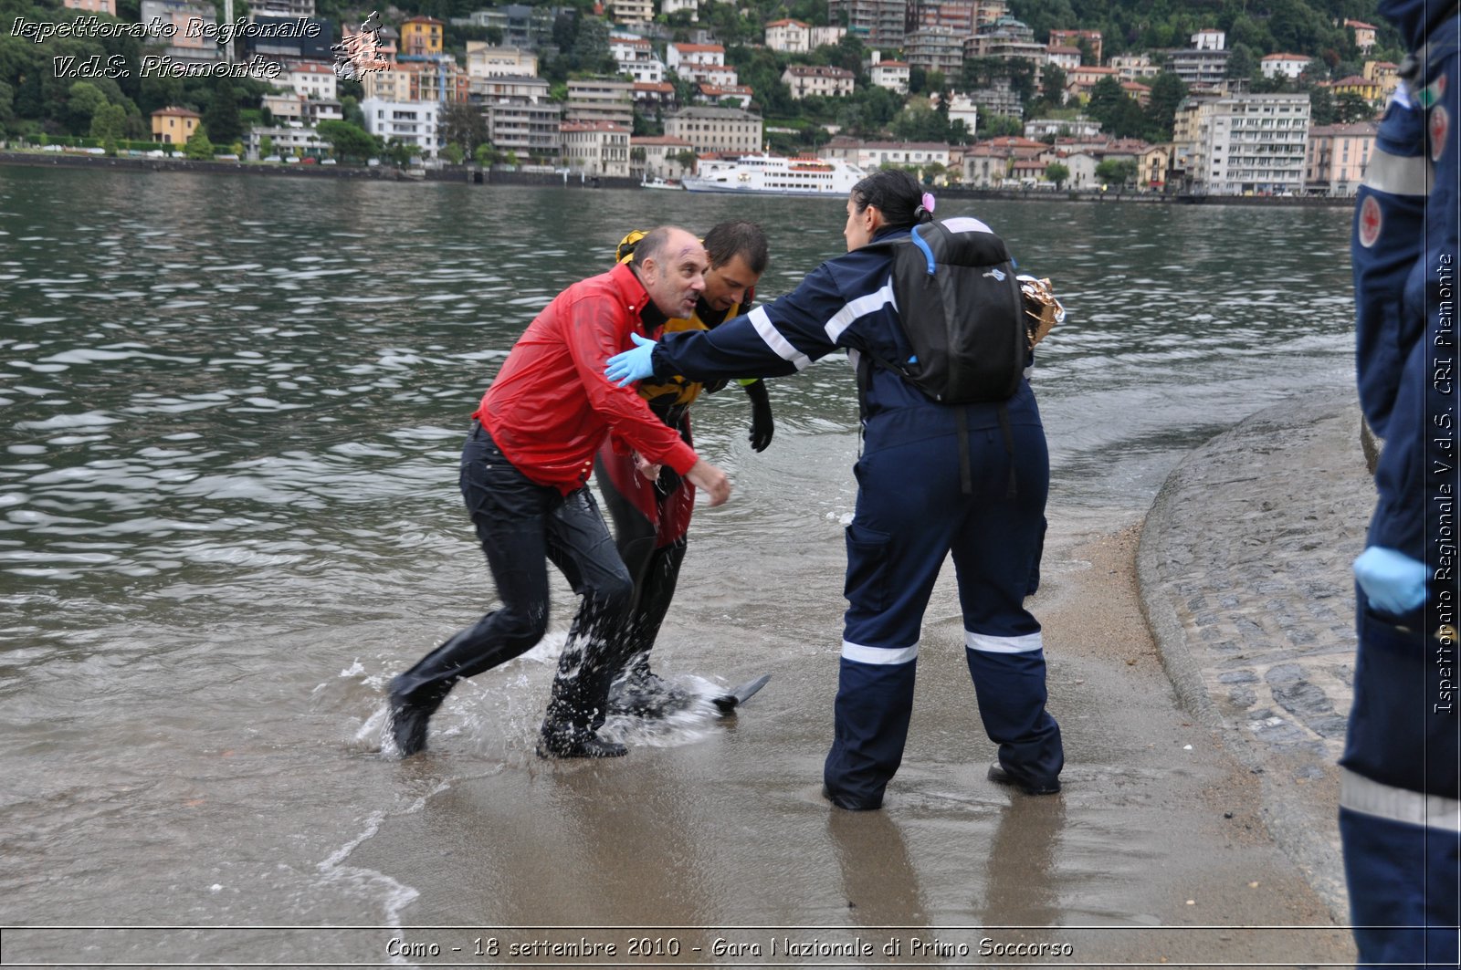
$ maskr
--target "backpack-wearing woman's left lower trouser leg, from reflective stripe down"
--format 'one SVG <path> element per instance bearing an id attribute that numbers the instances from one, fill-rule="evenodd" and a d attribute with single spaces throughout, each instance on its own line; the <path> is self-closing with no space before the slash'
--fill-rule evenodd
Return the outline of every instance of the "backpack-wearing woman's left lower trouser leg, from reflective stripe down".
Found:
<path id="1" fill-rule="evenodd" d="M 842 646 L 836 728 L 823 780 L 846 808 L 877 808 L 903 761 L 913 713 L 918 644 L 884 650 Z"/>

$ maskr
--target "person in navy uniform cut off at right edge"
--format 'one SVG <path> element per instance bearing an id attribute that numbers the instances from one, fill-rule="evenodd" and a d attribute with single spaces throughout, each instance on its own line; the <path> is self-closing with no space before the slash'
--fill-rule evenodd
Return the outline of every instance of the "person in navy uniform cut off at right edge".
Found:
<path id="1" fill-rule="evenodd" d="M 1384 447 L 1354 560 L 1354 703 L 1340 840 L 1359 966 L 1455 967 L 1461 926 L 1455 295 L 1461 225 L 1455 4 L 1382 0 L 1411 51 L 1359 191 L 1360 408 Z"/>

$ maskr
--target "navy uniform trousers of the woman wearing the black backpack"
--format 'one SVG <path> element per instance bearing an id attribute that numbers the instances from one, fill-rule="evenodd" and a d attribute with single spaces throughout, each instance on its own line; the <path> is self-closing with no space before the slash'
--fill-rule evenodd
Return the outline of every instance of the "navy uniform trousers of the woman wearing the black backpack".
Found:
<path id="1" fill-rule="evenodd" d="M 972 494 L 960 482 L 953 434 L 871 446 L 858 460 L 858 507 L 847 526 L 847 612 L 836 735 L 824 767 L 843 808 L 882 803 L 903 760 L 920 625 L 953 554 L 964 653 L 979 713 L 999 761 L 1020 779 L 1053 780 L 1061 732 L 1045 710 L 1040 624 L 1024 608 L 1039 560 L 1049 454 L 1039 424 L 969 432 Z M 1012 451 L 1012 454 L 1011 454 Z M 1014 494 L 1010 467 L 1014 465 Z"/>

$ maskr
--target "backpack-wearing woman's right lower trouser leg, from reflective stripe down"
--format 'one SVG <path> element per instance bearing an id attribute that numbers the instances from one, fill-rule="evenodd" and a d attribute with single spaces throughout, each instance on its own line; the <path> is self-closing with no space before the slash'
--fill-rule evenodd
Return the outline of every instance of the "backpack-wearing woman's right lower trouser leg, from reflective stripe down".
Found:
<path id="1" fill-rule="evenodd" d="M 999 745 L 1007 771 L 1052 780 L 1065 767 L 1061 728 L 1045 710 L 1045 650 L 1040 634 L 993 637 L 964 631 L 964 657 L 979 698 L 979 717 Z"/>

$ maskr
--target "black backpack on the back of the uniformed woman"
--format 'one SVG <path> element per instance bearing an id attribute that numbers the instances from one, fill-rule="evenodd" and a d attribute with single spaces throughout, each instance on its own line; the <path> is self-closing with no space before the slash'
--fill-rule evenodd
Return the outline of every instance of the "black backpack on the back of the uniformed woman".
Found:
<path id="1" fill-rule="evenodd" d="M 1008 400 L 1030 337 L 1004 240 L 976 219 L 925 222 L 862 250 L 893 251 L 893 295 L 910 361 L 868 355 L 945 405 Z"/>

